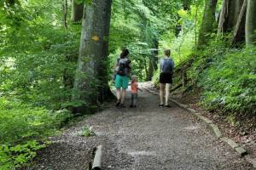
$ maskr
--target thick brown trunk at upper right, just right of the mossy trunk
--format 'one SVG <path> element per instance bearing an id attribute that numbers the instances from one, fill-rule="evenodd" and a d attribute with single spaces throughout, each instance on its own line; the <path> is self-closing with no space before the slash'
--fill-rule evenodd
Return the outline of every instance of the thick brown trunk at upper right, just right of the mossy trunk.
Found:
<path id="1" fill-rule="evenodd" d="M 233 30 L 239 18 L 243 2 L 244 0 L 224 0 L 218 22 L 218 34 Z"/>

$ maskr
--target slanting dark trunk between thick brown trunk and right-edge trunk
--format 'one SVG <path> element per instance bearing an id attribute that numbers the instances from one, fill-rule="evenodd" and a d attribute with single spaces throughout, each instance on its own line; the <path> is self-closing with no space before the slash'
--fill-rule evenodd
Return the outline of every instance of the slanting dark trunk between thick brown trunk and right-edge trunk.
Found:
<path id="1" fill-rule="evenodd" d="M 236 22 L 235 30 L 233 33 L 232 42 L 236 44 L 238 42 L 245 42 L 245 20 L 247 14 L 247 0 L 244 0 L 241 12 Z"/>

